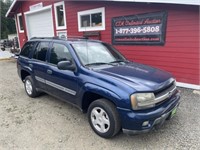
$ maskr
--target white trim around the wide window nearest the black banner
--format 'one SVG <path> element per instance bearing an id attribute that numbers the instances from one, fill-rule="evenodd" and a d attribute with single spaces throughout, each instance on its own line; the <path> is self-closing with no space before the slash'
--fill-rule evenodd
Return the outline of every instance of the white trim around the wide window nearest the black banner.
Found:
<path id="1" fill-rule="evenodd" d="M 95 13 L 102 13 L 102 26 L 100 27 L 81 27 L 81 16 Z M 105 7 L 90 9 L 86 11 L 80 11 L 77 13 L 78 18 L 78 31 L 97 31 L 97 30 L 105 30 Z"/>

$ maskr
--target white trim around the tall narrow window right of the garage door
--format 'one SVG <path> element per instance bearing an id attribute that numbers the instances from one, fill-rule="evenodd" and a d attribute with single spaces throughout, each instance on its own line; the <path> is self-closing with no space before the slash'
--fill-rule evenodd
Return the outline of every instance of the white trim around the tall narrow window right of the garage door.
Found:
<path id="1" fill-rule="evenodd" d="M 56 7 L 63 5 L 63 15 L 64 15 L 64 26 L 58 26 L 58 17 L 57 17 L 57 11 L 56 11 Z M 65 11 L 65 2 L 58 2 L 54 4 L 54 16 L 56 19 L 56 29 L 57 30 L 62 30 L 62 29 L 66 29 L 67 28 L 67 23 L 66 23 L 66 11 Z"/>

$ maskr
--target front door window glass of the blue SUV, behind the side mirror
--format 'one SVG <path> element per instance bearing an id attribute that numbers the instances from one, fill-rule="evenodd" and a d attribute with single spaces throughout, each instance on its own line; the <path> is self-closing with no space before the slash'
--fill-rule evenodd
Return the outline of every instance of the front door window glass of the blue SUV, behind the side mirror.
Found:
<path id="1" fill-rule="evenodd" d="M 68 48 L 59 43 L 54 43 L 50 53 L 50 63 L 57 65 L 60 61 L 72 60 Z"/>

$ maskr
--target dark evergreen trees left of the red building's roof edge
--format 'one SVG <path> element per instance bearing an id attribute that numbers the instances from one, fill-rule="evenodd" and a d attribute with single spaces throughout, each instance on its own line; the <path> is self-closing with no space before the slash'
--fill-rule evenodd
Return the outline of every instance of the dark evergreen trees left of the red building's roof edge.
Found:
<path id="1" fill-rule="evenodd" d="M 16 33 L 15 21 L 12 18 L 6 18 L 6 12 L 8 11 L 12 0 L 0 0 L 1 8 L 1 39 L 7 39 L 8 34 Z"/>

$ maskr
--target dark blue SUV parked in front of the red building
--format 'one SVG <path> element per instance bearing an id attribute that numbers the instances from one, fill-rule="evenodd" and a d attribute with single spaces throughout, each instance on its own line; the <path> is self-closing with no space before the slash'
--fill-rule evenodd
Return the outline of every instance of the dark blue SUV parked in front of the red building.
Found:
<path id="1" fill-rule="evenodd" d="M 45 92 L 77 106 L 104 138 L 121 129 L 148 132 L 172 118 L 179 105 L 170 73 L 128 61 L 102 41 L 33 38 L 17 68 L 28 96 Z"/>

